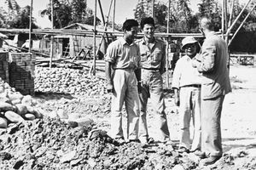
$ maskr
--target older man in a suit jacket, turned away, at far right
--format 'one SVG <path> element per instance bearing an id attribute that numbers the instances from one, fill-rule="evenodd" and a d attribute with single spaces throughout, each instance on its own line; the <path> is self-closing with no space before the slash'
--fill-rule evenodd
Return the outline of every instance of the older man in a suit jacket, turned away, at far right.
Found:
<path id="1" fill-rule="evenodd" d="M 223 154 L 220 117 L 225 94 L 231 92 L 228 72 L 228 47 L 223 38 L 214 32 L 208 17 L 200 20 L 200 29 L 206 37 L 201 55 L 192 65 L 202 73 L 201 85 L 201 150 L 207 154 L 204 165 L 218 161 Z"/>

